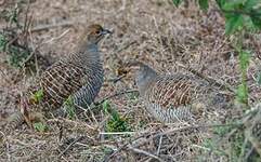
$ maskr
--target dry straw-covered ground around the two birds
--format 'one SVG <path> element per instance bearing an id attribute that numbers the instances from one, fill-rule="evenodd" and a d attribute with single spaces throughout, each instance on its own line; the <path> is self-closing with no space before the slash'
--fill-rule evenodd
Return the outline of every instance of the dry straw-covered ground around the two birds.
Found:
<path id="1" fill-rule="evenodd" d="M 27 4 L 22 6 L 21 22 L 25 21 Z M 114 31 L 100 45 L 105 83 L 96 100 L 136 89 L 133 71 L 112 82 L 118 77 L 122 63 L 130 59 L 144 62 L 160 73 L 190 73 L 183 65 L 233 89 L 240 83 L 233 38 L 224 35 L 224 18 L 214 5 L 205 13 L 194 3 L 177 9 L 170 0 L 32 0 L 30 14 L 34 19 L 30 46 L 38 46 L 39 54 L 50 64 L 74 51 L 88 25 L 99 23 Z M 4 26 L 1 19 L 0 27 Z M 256 81 L 261 70 L 260 36 L 249 36 L 244 42 L 252 50 L 247 80 L 250 105 L 261 99 L 261 89 Z M 15 96 L 36 78 L 23 77 L 21 70 L 9 66 L 5 59 L 6 55 L 1 53 L 1 124 L 17 108 Z M 212 137 L 211 129 L 190 129 L 191 123 L 162 125 L 146 112 L 133 94 L 108 100 L 129 119 L 131 132 L 106 134 L 104 123 L 108 117 L 102 111 L 89 116 L 87 122 L 81 118 L 50 119 L 51 129 L 47 133 L 34 132 L 24 124 L 10 134 L 0 132 L 0 161 L 229 161 L 227 156 L 213 153 L 204 146 L 205 139 Z M 230 107 L 211 108 L 201 122 L 222 124 L 239 113 L 240 110 Z"/>

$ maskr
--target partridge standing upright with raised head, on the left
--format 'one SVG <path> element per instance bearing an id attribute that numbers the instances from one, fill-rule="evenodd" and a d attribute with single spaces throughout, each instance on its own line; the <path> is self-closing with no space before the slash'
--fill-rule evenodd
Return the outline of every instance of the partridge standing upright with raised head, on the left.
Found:
<path id="1" fill-rule="evenodd" d="M 63 107 L 68 97 L 74 105 L 90 105 L 103 84 L 99 42 L 107 33 L 112 31 L 99 24 L 88 26 L 75 51 L 47 68 L 36 84 L 22 93 L 18 111 L 9 119 L 11 127 L 23 121 L 30 127 L 35 122 L 44 122 L 47 114 Z"/>

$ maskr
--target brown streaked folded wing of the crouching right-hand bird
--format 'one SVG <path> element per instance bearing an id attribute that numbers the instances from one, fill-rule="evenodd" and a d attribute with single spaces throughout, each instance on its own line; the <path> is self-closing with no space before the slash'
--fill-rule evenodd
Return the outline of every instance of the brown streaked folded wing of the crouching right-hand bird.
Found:
<path id="1" fill-rule="evenodd" d="M 201 85 L 191 76 L 164 76 L 149 86 L 146 98 L 164 109 L 178 108 L 191 105 L 201 92 Z"/>

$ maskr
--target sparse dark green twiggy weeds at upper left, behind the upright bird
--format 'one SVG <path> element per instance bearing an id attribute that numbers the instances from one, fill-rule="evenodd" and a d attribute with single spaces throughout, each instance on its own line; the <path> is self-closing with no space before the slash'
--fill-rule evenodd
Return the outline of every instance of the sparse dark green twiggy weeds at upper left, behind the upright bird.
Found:
<path id="1" fill-rule="evenodd" d="M 4 9 L 0 14 L 0 17 L 8 24 L 8 26 L 0 31 L 0 52 L 6 54 L 8 63 L 15 68 L 24 67 L 29 60 L 32 51 L 28 46 L 26 38 L 30 19 L 26 19 L 24 26 L 19 23 L 23 3 L 23 1 L 18 1 L 15 5 Z"/>

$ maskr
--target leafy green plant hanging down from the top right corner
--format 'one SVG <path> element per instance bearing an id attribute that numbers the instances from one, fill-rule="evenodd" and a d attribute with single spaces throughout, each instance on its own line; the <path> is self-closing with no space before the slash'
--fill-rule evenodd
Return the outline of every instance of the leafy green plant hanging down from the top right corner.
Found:
<path id="1" fill-rule="evenodd" d="M 178 6 L 182 0 L 173 0 Z M 251 52 L 244 49 L 244 39 L 246 33 L 251 33 L 261 29 L 261 1 L 260 0 L 216 0 L 220 11 L 225 17 L 225 33 L 233 35 L 235 51 L 239 54 L 239 67 L 242 81 L 236 91 L 236 102 L 248 107 L 248 86 L 247 69 L 250 62 Z M 198 0 L 203 10 L 208 9 L 208 0 Z M 258 78 L 258 82 L 260 81 Z"/>

